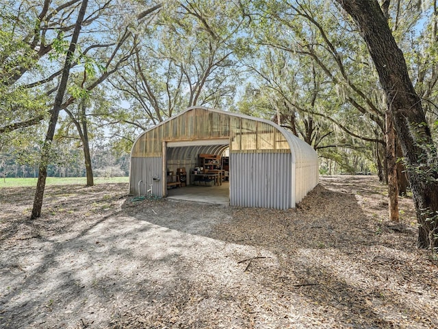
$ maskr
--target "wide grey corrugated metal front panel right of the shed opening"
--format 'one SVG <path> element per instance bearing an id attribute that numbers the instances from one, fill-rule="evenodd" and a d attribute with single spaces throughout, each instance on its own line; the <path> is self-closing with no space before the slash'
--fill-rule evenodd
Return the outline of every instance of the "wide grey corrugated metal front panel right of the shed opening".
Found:
<path id="1" fill-rule="evenodd" d="M 230 154 L 230 205 L 294 208 L 292 155 L 289 153 Z"/>

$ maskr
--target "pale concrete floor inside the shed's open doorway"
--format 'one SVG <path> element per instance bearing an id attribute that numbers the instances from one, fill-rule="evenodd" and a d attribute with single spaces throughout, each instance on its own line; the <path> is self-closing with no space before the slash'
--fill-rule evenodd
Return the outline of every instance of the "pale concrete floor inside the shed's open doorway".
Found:
<path id="1" fill-rule="evenodd" d="M 169 199 L 184 201 L 205 202 L 207 204 L 230 204 L 229 182 L 222 182 L 220 186 L 189 185 L 167 190 Z"/>

